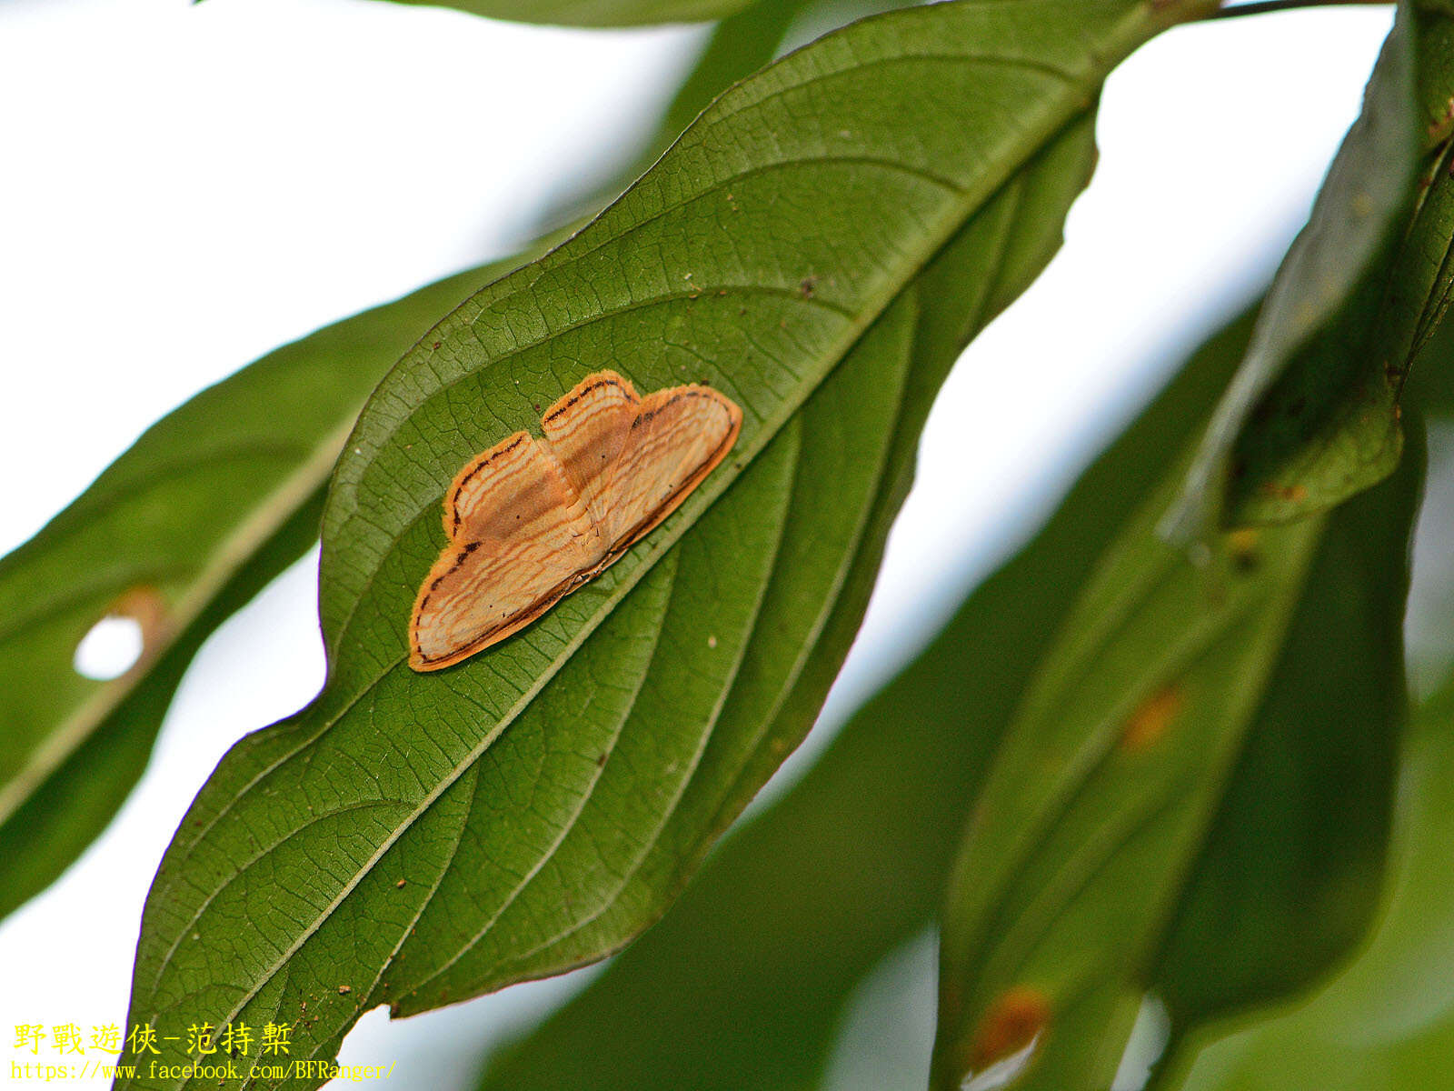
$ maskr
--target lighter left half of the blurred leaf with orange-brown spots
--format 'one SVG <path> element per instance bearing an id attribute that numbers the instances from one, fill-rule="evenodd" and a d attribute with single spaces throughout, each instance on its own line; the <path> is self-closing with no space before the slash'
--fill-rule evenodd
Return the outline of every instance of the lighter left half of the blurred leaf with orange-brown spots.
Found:
<path id="1" fill-rule="evenodd" d="M 1035 1088 L 1108 1085 L 1154 925 L 1195 854 L 1316 524 L 1194 566 L 1134 519 L 1011 724 L 949 883 L 936 1088 L 1037 1040 Z"/>

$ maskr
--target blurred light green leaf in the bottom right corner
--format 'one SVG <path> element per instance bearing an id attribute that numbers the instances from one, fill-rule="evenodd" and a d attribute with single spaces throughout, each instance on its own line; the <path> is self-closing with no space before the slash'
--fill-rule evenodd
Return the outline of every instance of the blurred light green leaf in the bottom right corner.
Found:
<path id="1" fill-rule="evenodd" d="M 1425 1091 L 1454 1055 L 1454 687 L 1403 746 L 1389 899 L 1367 947 L 1310 1001 L 1195 1055 L 1185 1091 Z"/>

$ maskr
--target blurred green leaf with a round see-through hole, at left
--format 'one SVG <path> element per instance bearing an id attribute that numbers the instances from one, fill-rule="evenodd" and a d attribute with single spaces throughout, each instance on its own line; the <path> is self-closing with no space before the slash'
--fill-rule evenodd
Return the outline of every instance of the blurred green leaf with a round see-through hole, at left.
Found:
<path id="1" fill-rule="evenodd" d="M 388 365 L 507 268 L 439 281 L 202 391 L 0 560 L 0 915 L 111 820 L 196 649 L 317 538 L 329 473 Z M 76 647 L 113 611 L 142 623 L 141 659 L 83 678 Z"/>

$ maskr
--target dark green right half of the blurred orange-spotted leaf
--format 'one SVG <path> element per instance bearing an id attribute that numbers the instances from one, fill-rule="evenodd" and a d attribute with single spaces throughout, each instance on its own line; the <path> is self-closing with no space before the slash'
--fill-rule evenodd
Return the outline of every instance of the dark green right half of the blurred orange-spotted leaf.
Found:
<path id="1" fill-rule="evenodd" d="M 1332 516 L 1179 895 L 1150 983 L 1176 1034 L 1304 988 L 1381 898 L 1421 428 L 1409 442 L 1406 470 Z"/>

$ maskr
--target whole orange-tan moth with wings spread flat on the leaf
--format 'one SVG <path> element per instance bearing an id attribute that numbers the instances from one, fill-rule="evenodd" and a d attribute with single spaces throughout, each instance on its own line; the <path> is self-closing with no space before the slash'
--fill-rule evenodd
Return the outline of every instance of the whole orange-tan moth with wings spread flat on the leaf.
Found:
<path id="1" fill-rule="evenodd" d="M 475 455 L 445 493 L 449 544 L 409 621 L 409 665 L 438 671 L 523 628 L 676 511 L 742 428 L 731 399 L 691 384 L 640 397 L 587 375 Z"/>

